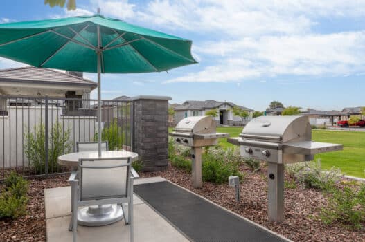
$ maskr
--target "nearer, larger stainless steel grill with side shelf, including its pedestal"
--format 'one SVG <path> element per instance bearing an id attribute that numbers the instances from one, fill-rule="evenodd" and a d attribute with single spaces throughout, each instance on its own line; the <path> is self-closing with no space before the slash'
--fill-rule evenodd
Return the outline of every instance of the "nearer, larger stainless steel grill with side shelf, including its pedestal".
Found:
<path id="1" fill-rule="evenodd" d="M 268 162 L 268 214 L 270 221 L 284 219 L 284 164 L 310 161 L 314 154 L 343 149 L 342 145 L 312 141 L 312 128 L 305 116 L 261 116 L 244 127 L 239 138 L 244 158 Z"/>

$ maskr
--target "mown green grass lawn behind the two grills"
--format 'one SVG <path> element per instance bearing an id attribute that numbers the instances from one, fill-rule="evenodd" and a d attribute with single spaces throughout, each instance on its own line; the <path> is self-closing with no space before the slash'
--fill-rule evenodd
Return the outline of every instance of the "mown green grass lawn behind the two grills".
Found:
<path id="1" fill-rule="evenodd" d="M 172 131 L 171 129 L 169 131 Z M 231 137 L 238 137 L 240 127 L 217 127 L 217 132 L 229 133 Z M 322 153 L 316 156 L 321 158 L 323 169 L 339 167 L 344 174 L 365 178 L 365 132 L 355 131 L 312 131 L 314 141 L 343 144 L 343 151 Z M 231 147 L 233 145 L 220 139 L 219 145 Z"/>

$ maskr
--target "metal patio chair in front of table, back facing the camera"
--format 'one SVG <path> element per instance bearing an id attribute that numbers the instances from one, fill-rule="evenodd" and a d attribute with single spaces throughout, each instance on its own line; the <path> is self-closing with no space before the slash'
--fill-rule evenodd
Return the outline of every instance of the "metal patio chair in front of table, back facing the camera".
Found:
<path id="1" fill-rule="evenodd" d="M 130 225 L 133 241 L 133 180 L 139 175 L 132 167 L 132 158 L 80 159 L 78 171 L 73 171 L 71 183 L 73 241 L 76 241 L 78 207 L 118 204 L 123 210 L 125 224 Z M 127 209 L 125 208 L 127 203 Z M 127 212 L 127 216 L 126 216 Z"/>

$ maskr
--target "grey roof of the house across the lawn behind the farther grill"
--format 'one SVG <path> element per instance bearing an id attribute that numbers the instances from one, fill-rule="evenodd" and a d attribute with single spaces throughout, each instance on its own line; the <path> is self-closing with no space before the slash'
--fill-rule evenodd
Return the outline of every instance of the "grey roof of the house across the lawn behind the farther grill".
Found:
<path id="1" fill-rule="evenodd" d="M 182 111 L 182 110 L 203 110 L 203 109 L 215 109 L 222 104 L 228 104 L 229 106 L 238 106 L 243 110 L 246 111 L 253 111 L 253 109 L 249 109 L 244 106 L 239 106 L 234 104 L 233 102 L 219 102 L 215 100 L 205 100 L 205 101 L 197 101 L 197 100 L 188 100 L 185 101 L 181 106 L 175 107 L 175 111 Z"/>

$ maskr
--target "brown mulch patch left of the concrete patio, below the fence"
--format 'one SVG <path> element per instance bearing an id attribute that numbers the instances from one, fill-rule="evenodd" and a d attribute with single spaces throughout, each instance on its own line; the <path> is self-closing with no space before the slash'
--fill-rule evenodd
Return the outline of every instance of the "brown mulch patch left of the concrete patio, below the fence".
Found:
<path id="1" fill-rule="evenodd" d="M 0 219 L 0 241 L 46 241 L 46 217 L 44 215 L 44 189 L 69 185 L 69 175 L 29 180 L 28 214 L 15 220 Z M 1 186 L 1 185 L 0 185 Z"/>

